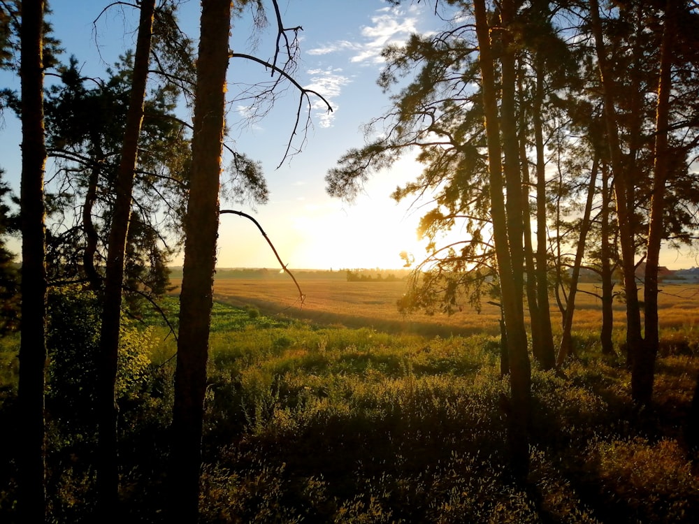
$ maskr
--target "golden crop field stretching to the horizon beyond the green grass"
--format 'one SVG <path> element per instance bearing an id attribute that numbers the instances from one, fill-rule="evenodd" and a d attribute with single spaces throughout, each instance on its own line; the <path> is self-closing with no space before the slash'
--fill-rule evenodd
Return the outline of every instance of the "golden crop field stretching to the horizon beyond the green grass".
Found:
<path id="1" fill-rule="evenodd" d="M 288 275 L 271 273 L 268 277 L 240 278 L 234 271 L 219 271 L 215 279 L 214 300 L 237 307 L 256 307 L 265 314 L 283 314 L 311 319 L 326 324 L 350 327 L 370 326 L 380 330 L 440 335 L 499 333 L 498 307 L 484 304 L 477 313 L 467 304 L 452 315 L 422 313 L 403 315 L 396 300 L 405 293 L 405 279 L 368 282 L 347 282 L 337 272 L 324 276 L 320 272 L 296 272 L 294 276 L 303 291 L 303 302 Z M 178 275 L 179 276 L 179 275 Z M 181 278 L 173 278 L 178 293 Z M 574 330 L 596 330 L 601 325 L 600 300 L 596 284 L 582 284 L 577 294 Z M 586 291 L 586 292 L 585 292 Z M 640 291 L 642 298 L 642 290 Z M 661 284 L 661 328 L 693 329 L 699 324 L 699 285 Z M 554 329 L 560 326 L 561 313 L 556 298 L 551 298 Z M 614 303 L 614 326 L 624 329 L 624 304 Z"/>

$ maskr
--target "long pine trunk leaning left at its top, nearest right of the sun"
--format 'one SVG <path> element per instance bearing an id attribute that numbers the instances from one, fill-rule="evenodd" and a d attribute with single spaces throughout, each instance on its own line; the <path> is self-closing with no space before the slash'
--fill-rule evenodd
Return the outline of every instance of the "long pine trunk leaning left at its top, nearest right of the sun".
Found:
<path id="1" fill-rule="evenodd" d="M 512 8 L 510 2 L 506 2 L 506 8 Z M 512 474 L 519 483 L 524 483 L 529 470 L 529 441 L 528 419 L 531 398 L 531 364 L 527 351 L 527 337 L 524 326 L 521 277 L 517 278 L 515 272 L 521 272 L 521 265 L 513 268 L 512 246 L 510 236 L 517 238 L 521 245 L 521 214 L 520 224 L 510 235 L 508 225 L 512 221 L 507 220 L 505 210 L 505 198 L 503 191 L 503 164 L 500 147 L 500 122 L 498 117 L 498 99 L 495 81 L 495 61 L 491 52 L 491 34 L 487 22 L 487 11 L 484 0 L 474 1 L 474 13 L 476 22 L 476 34 L 480 49 L 480 69 L 482 76 L 482 91 L 485 113 L 485 124 L 488 143 L 488 167 L 491 192 L 491 216 L 493 219 L 493 236 L 495 238 L 496 259 L 500 274 L 500 286 L 503 298 L 503 310 L 505 314 L 505 328 L 507 330 L 507 345 L 510 357 L 510 405 L 507 409 L 508 435 L 507 439 L 512 453 Z M 506 19 L 507 20 L 507 19 Z M 508 115 L 503 115 L 507 118 Z M 515 136 L 516 140 L 516 136 Z M 516 147 L 516 145 L 515 145 Z M 517 187 L 517 191 L 508 194 L 521 202 L 521 180 L 519 169 L 517 182 L 510 180 L 508 187 Z M 516 208 L 516 206 L 512 206 Z M 521 204 L 519 205 L 521 210 Z M 517 245 L 517 240 L 514 242 Z M 517 257 L 518 259 L 520 255 Z"/>

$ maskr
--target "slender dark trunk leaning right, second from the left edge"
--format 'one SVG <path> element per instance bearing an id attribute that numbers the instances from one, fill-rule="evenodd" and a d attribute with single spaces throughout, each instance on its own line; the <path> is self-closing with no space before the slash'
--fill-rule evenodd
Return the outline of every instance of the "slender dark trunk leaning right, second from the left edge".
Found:
<path id="1" fill-rule="evenodd" d="M 99 389 L 97 391 L 99 449 L 97 456 L 98 513 L 104 521 L 114 518 L 117 510 L 119 470 L 117 453 L 117 407 L 114 388 L 117 377 L 117 353 L 124 279 L 131 196 L 138 162 L 138 138 L 143 122 L 145 87 L 150 63 L 155 0 L 140 3 L 140 21 L 131 80 L 129 110 L 124 129 L 121 159 L 116 181 L 116 198 L 109 233 L 105 269 L 100 355 L 98 362 Z"/>

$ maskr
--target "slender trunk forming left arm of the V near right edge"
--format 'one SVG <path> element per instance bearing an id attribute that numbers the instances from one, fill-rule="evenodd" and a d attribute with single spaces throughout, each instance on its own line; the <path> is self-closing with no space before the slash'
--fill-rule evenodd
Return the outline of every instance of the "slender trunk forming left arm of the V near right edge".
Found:
<path id="1" fill-rule="evenodd" d="M 614 106 L 614 95 L 617 94 L 617 87 L 612 78 L 612 68 L 607 59 L 599 10 L 598 0 L 590 0 L 590 21 L 597 49 L 605 106 L 605 124 L 607 126 L 610 158 L 614 172 L 614 196 L 617 203 L 619 243 L 621 245 L 621 270 L 624 274 L 624 291 L 626 291 L 626 347 L 629 356 L 633 360 L 633 354 L 636 351 L 640 351 L 643 344 L 640 302 L 635 280 L 633 182 L 629 180 L 630 177 L 621 157 L 617 110 Z"/>

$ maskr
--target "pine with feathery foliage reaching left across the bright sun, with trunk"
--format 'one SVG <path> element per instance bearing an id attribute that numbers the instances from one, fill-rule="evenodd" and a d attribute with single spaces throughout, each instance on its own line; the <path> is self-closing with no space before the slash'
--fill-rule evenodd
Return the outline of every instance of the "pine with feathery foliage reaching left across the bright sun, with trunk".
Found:
<path id="1" fill-rule="evenodd" d="M 431 239 L 427 260 L 432 269 L 415 278 L 422 284 L 406 298 L 426 308 L 442 301 L 448 312 L 468 288 L 478 299 L 482 284 L 496 272 L 512 393 L 503 407 L 512 472 L 523 481 L 528 471 L 530 362 L 524 325 L 517 43 L 512 41 L 521 6 L 503 3 L 501 13 L 487 13 L 484 2 L 474 3 L 474 34 L 466 3 L 450 5 L 454 13 L 445 17 L 454 24 L 448 29 L 433 36 L 414 35 L 405 46 L 384 50 L 387 66 L 380 85 L 388 90 L 405 77 L 412 82 L 392 97 L 387 115 L 373 121 L 373 126 L 387 124 L 378 138 L 349 150 L 329 170 L 327 191 L 351 200 L 371 173 L 391 167 L 405 152 L 418 151 L 424 170 L 415 182 L 396 190 L 394 198 L 433 195 L 433 207 L 420 224 Z M 463 240 L 438 246 L 435 239 L 456 224 L 466 232 Z M 400 307 L 409 305 L 401 301 Z"/>

